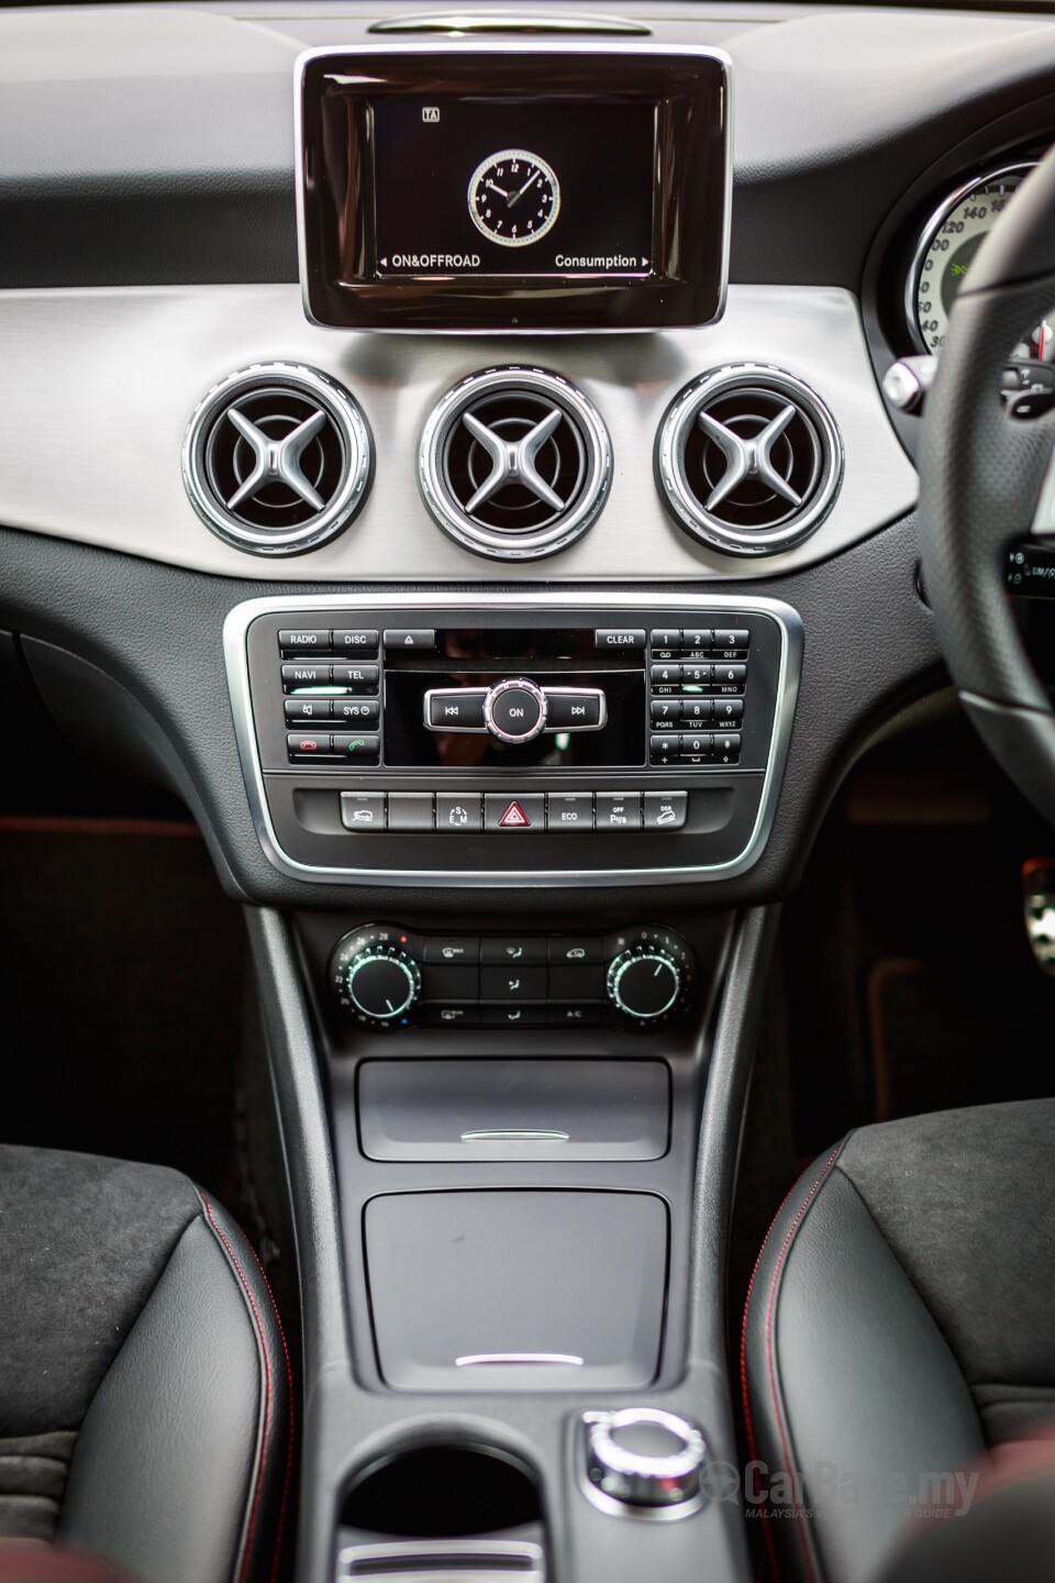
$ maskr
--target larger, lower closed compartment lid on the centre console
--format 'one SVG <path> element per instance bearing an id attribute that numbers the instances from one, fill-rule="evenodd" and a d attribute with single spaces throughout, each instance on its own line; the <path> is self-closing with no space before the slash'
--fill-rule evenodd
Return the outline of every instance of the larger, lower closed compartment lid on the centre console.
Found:
<path id="1" fill-rule="evenodd" d="M 399 1390 L 649 1385 L 667 1206 L 645 1192 L 386 1194 L 364 1236 L 378 1366 Z"/>

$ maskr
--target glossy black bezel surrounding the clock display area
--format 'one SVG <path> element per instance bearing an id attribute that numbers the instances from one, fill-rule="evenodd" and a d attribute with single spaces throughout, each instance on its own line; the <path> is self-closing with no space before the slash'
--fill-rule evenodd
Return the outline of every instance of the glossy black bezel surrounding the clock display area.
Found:
<path id="1" fill-rule="evenodd" d="M 338 81 L 340 79 L 340 81 Z M 641 277 L 373 271 L 367 106 L 384 97 L 656 106 L 656 268 Z M 350 104 L 351 101 L 351 104 Z M 500 44 L 318 51 L 302 60 L 297 198 L 308 318 L 334 329 L 661 329 L 721 315 L 729 233 L 728 63 L 707 49 Z M 340 133 L 361 127 L 345 146 Z M 353 163 L 354 160 L 354 163 Z M 343 168 L 342 168 L 343 166 Z M 342 226 L 353 237 L 342 249 Z M 350 255 L 350 260 L 348 256 Z"/>

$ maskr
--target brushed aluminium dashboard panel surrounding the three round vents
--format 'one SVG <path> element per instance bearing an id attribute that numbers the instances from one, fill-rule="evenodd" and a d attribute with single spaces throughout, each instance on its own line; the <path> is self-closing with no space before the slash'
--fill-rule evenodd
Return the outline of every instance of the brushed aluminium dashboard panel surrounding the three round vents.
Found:
<path id="1" fill-rule="evenodd" d="M 612 488 L 595 527 L 517 583 L 702 583 L 816 565 L 898 521 L 916 472 L 876 385 L 856 299 L 827 287 L 731 287 L 704 329 L 634 336 L 378 336 L 312 329 L 288 285 L 0 291 L 0 522 L 119 554 L 261 583 L 495 583 L 443 533 L 418 486 L 418 446 L 459 378 L 498 364 L 557 366 L 603 415 Z M 180 450 L 206 391 L 277 359 L 320 369 L 362 408 L 375 438 L 370 499 L 335 540 L 296 560 L 215 538 L 187 500 Z M 747 560 L 698 543 L 667 513 L 652 445 L 677 393 L 731 363 L 780 364 L 830 407 L 843 486 L 818 532 Z M 55 465 L 55 459 L 62 465 Z"/>

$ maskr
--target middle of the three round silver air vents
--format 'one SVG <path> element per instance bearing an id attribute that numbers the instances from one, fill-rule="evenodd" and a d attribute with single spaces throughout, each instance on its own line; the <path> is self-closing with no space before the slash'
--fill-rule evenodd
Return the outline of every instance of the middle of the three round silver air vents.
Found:
<path id="1" fill-rule="evenodd" d="M 421 437 L 421 488 L 444 533 L 478 556 L 530 560 L 593 526 L 612 481 L 607 429 L 568 380 L 473 374 Z"/>

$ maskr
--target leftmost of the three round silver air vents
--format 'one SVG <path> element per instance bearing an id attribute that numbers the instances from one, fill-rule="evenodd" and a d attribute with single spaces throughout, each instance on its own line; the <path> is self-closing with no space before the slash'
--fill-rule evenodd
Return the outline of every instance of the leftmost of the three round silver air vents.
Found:
<path id="1" fill-rule="evenodd" d="M 291 363 L 231 374 L 183 440 L 183 483 L 207 527 L 258 556 L 340 533 L 367 497 L 370 431 L 348 391 Z"/>

